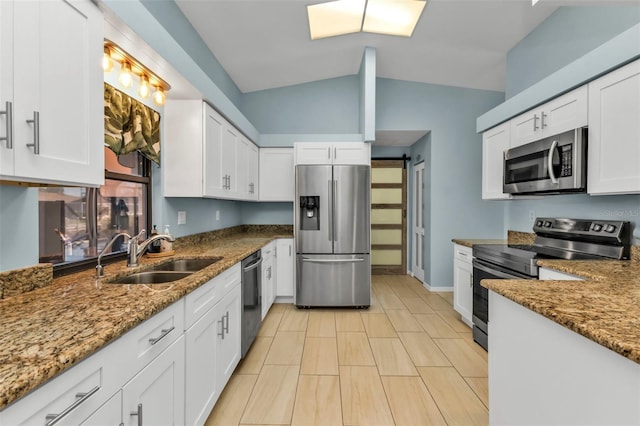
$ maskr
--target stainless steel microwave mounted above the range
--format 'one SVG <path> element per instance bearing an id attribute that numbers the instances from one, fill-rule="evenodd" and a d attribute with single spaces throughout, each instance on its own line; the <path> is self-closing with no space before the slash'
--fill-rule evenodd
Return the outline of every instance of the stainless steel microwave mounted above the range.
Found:
<path id="1" fill-rule="evenodd" d="M 504 152 L 503 192 L 586 192 L 587 128 L 581 127 Z"/>

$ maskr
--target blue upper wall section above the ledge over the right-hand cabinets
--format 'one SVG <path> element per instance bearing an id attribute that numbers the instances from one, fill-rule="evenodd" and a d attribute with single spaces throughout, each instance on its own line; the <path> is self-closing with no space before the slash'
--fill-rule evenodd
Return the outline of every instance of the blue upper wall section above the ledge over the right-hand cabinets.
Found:
<path id="1" fill-rule="evenodd" d="M 638 22 L 640 7 L 559 8 L 508 52 L 506 97 L 511 98 Z"/>

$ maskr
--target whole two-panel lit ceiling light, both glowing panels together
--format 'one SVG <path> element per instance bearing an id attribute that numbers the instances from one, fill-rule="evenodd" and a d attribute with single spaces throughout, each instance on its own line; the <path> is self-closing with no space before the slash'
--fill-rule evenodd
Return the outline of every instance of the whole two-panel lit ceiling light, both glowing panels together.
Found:
<path id="1" fill-rule="evenodd" d="M 368 32 L 411 37 L 426 0 L 335 0 L 307 6 L 311 40 Z"/>

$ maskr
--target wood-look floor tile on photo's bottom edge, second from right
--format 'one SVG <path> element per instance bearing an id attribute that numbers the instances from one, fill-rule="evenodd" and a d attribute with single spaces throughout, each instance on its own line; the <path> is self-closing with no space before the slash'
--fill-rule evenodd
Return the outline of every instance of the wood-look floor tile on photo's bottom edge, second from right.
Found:
<path id="1" fill-rule="evenodd" d="M 435 401 L 419 377 L 382 377 L 397 426 L 446 425 Z"/>

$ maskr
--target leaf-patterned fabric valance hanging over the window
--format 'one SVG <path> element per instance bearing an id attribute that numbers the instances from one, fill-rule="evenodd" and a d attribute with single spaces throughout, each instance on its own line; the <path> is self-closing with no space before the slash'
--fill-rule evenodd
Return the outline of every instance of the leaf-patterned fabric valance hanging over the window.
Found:
<path id="1" fill-rule="evenodd" d="M 160 165 L 160 114 L 105 83 L 104 143 L 117 155 L 139 151 Z"/>

